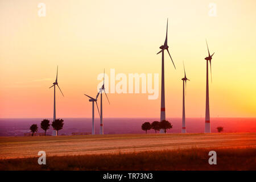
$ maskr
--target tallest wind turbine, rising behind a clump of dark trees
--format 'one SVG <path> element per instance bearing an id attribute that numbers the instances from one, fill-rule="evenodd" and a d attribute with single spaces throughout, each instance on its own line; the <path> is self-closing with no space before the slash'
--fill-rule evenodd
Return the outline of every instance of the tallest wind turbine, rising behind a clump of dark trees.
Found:
<path id="1" fill-rule="evenodd" d="M 170 55 L 170 52 L 168 50 L 168 45 L 167 45 L 167 32 L 168 32 L 168 19 L 167 19 L 167 28 L 166 28 L 166 40 L 164 41 L 164 45 L 160 46 L 159 48 L 162 49 L 157 53 L 157 55 L 162 52 L 162 86 L 161 86 L 161 109 L 160 109 L 160 121 L 163 121 L 166 119 L 166 104 L 165 104 L 165 99 L 164 99 L 164 50 L 167 50 L 168 54 Z M 170 55 L 171 57 L 171 55 Z M 172 57 L 171 57 L 172 60 Z M 172 60 L 172 64 L 174 64 L 174 61 Z M 174 68 L 176 69 L 175 65 Z M 164 133 L 163 129 L 160 129 L 159 133 Z"/>

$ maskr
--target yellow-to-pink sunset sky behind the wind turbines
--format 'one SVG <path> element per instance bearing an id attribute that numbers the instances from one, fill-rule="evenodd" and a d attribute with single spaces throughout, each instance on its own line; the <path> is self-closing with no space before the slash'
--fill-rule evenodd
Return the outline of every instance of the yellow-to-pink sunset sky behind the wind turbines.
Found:
<path id="1" fill-rule="evenodd" d="M 39 16 L 39 3 L 46 16 Z M 216 5 L 216 9 L 209 6 Z M 0 118 L 91 117 L 92 103 L 110 69 L 159 74 L 159 97 L 108 93 L 104 117 L 160 117 L 160 51 L 166 36 L 166 117 L 181 117 L 184 77 L 186 117 L 204 117 L 208 41 L 212 60 L 211 117 L 256 117 L 256 2 L 245 1 L 0 1 Z M 216 11 L 213 11 L 216 10 Z M 212 16 L 212 12 L 216 16 Z M 210 14 L 209 14 L 210 13 Z M 116 84 L 118 81 L 115 81 Z M 100 102 L 98 102 L 100 104 Z M 98 115 L 96 115 L 98 117 Z"/>

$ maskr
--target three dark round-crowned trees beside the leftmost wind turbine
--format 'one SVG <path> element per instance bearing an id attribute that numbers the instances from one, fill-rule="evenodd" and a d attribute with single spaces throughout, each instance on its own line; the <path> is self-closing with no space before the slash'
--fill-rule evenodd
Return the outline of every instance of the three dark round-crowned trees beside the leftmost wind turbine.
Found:
<path id="1" fill-rule="evenodd" d="M 55 119 L 55 121 L 52 122 L 52 127 L 54 130 L 57 131 L 57 135 L 59 135 L 59 130 L 63 129 L 64 120 L 63 119 Z M 51 126 L 48 119 L 44 119 L 41 121 L 40 127 L 44 130 L 44 136 L 46 136 L 46 131 Z M 35 132 L 38 132 L 38 125 L 33 124 L 30 126 L 30 131 L 32 132 L 32 136 L 34 136 Z"/>

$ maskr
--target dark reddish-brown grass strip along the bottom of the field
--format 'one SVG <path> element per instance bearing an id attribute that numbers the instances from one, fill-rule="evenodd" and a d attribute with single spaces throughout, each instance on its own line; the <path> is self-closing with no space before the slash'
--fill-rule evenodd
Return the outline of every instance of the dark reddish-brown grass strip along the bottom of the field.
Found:
<path id="1" fill-rule="evenodd" d="M 0 170 L 86 170 L 86 171 L 170 171 L 170 170 L 256 170 L 256 148 L 214 148 L 217 164 L 210 165 L 209 148 L 143 151 L 119 154 L 49 156 L 46 165 L 38 158 L 0 160 Z"/>

